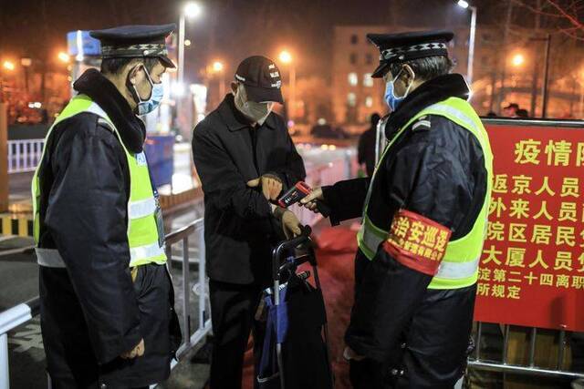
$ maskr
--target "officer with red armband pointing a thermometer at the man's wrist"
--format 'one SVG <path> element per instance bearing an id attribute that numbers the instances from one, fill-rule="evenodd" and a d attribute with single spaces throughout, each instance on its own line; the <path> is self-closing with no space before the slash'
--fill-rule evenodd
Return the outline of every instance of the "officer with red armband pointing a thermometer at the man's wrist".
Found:
<path id="1" fill-rule="evenodd" d="M 452 388 L 464 373 L 493 156 L 464 78 L 449 74 L 453 37 L 368 35 L 387 146 L 371 179 L 304 200 L 328 203 L 333 224 L 362 216 L 344 353 L 356 388 Z"/>

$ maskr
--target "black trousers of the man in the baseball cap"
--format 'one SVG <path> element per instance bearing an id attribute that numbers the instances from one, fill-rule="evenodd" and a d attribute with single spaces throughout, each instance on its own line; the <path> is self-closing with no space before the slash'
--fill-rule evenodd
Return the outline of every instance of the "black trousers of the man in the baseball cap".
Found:
<path id="1" fill-rule="evenodd" d="M 252 330 L 255 357 L 261 349 L 263 330 L 255 322 L 255 311 L 262 287 L 211 280 L 209 292 L 214 334 L 211 389 L 241 388 L 245 347 Z M 255 371 L 257 362 L 255 358 Z"/>

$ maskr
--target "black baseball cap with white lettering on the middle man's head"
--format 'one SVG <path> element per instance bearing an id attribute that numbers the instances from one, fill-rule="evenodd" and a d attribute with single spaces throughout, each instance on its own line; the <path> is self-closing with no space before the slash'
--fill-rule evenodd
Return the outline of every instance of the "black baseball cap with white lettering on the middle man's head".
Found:
<path id="1" fill-rule="evenodd" d="M 235 80 L 245 85 L 247 97 L 256 103 L 276 101 L 284 104 L 280 70 L 266 56 L 245 58 L 237 67 Z"/>

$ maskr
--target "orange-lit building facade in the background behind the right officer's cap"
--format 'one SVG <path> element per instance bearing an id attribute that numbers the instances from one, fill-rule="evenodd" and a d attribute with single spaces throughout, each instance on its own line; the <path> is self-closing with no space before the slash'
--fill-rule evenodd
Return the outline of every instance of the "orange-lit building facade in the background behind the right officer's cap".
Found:
<path id="1" fill-rule="evenodd" d="M 422 29 L 428 28 L 334 27 L 331 90 L 336 123 L 363 125 L 371 113 L 387 112 L 383 101 L 385 85 L 370 78 L 379 62 L 379 51 L 366 35 Z M 455 34 L 449 46 L 454 72 L 466 75 L 469 28 L 449 29 Z M 471 102 L 479 114 L 501 114 L 502 107 L 514 102 L 527 109 L 530 117 L 541 115 L 545 42 L 534 40 L 534 36 L 546 34 L 514 27 L 505 43 L 500 27 L 477 26 Z M 574 67 L 575 63 L 582 65 Z M 584 47 L 558 34 L 552 36 L 547 99 L 548 117 L 584 118 Z"/>

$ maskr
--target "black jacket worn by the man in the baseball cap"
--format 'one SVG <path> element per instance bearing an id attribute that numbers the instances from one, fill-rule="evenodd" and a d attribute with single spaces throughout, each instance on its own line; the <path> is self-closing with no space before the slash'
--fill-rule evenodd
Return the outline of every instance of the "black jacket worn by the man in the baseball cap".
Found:
<path id="1" fill-rule="evenodd" d="M 246 182 L 276 174 L 284 190 L 306 177 L 284 119 L 271 113 L 252 127 L 229 94 L 193 130 L 193 159 L 203 183 L 207 273 L 214 281 L 269 280 L 273 244 L 282 239 L 261 189 Z"/>

